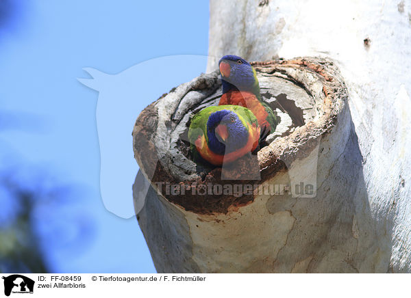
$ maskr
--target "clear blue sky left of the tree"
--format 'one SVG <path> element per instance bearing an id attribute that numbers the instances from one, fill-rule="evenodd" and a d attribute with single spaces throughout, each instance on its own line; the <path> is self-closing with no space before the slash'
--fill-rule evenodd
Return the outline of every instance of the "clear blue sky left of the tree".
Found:
<path id="1" fill-rule="evenodd" d="M 24 117 L 18 129 L 0 132 L 0 167 L 29 165 L 26 176 L 41 169 L 59 183 L 79 185 L 80 193 L 71 194 L 73 204 L 64 211 L 73 221 L 82 214 L 92 222 L 90 239 L 77 239 L 79 245 L 61 247 L 45 239 L 51 269 L 155 272 L 136 219 L 123 219 L 103 206 L 96 125 L 99 93 L 77 78 L 88 77 L 82 70 L 86 67 L 118 74 L 134 66 L 138 84 L 147 81 L 145 74 L 154 65 L 159 67 L 162 60 L 154 58 L 199 55 L 187 63 L 182 56 L 176 58 L 182 67 L 175 67 L 176 60 L 165 64 L 169 77 L 142 92 L 143 99 L 135 105 L 137 117 L 171 87 L 206 70 L 208 1 L 5 2 L 11 4 L 0 8 L 8 16 L 0 22 L 0 107 Z M 153 63 L 146 62 L 149 59 Z M 131 131 L 132 127 L 127 131 L 130 137 Z M 118 146 L 132 150 L 131 138 Z M 6 202 L 0 198 L 0 204 Z M 131 197 L 129 202 L 132 208 Z"/>

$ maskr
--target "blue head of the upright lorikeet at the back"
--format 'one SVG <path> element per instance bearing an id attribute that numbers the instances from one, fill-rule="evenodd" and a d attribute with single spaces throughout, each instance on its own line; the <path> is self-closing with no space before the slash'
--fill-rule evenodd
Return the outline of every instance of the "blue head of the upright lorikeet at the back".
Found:
<path id="1" fill-rule="evenodd" d="M 225 55 L 219 61 L 223 93 L 230 90 L 253 92 L 260 95 L 260 86 L 254 68 L 242 57 Z"/>

